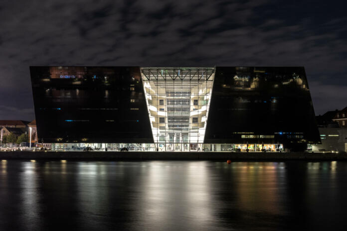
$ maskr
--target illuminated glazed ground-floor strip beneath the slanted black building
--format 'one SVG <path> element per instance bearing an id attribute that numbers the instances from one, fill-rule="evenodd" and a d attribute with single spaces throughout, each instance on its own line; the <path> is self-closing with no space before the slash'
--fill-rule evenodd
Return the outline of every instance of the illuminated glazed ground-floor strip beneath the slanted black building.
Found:
<path id="1" fill-rule="evenodd" d="M 283 144 L 52 143 L 52 151 L 284 151 Z"/>

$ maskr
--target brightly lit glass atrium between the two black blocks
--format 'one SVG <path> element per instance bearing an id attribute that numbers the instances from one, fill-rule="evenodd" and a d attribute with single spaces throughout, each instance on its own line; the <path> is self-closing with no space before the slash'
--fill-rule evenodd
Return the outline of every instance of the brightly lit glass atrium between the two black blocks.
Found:
<path id="1" fill-rule="evenodd" d="M 154 142 L 160 150 L 201 150 L 214 68 L 141 68 Z"/>

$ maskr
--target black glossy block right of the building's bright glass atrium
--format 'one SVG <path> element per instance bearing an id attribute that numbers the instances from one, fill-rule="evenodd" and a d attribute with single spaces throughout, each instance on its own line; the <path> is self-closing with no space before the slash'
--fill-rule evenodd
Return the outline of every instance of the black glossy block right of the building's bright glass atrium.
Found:
<path id="1" fill-rule="evenodd" d="M 205 143 L 320 143 L 303 67 L 216 67 Z"/>

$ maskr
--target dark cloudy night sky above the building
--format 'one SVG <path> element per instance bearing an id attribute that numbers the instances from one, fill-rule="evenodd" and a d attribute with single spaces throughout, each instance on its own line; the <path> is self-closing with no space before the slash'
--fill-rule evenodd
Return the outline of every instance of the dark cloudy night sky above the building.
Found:
<path id="1" fill-rule="evenodd" d="M 316 114 L 342 109 L 346 7 L 322 2 L 1 1 L 0 119 L 34 118 L 31 65 L 304 66 Z"/>

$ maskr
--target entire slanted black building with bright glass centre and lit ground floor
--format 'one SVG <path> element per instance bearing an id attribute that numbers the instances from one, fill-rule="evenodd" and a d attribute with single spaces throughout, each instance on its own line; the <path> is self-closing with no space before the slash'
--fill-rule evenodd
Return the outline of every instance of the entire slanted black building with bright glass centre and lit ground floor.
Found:
<path id="1" fill-rule="evenodd" d="M 38 139 L 59 148 L 304 150 L 303 67 L 30 67 Z"/>

